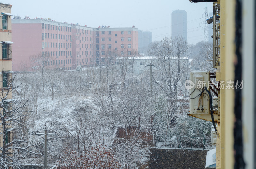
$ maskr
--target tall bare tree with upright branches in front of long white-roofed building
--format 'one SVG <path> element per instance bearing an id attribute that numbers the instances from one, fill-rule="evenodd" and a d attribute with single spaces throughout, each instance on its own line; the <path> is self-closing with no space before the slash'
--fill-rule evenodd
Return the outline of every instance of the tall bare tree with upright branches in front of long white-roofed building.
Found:
<path id="1" fill-rule="evenodd" d="M 163 38 L 152 44 L 149 53 L 156 57 L 157 72 L 153 73 L 155 83 L 171 99 L 177 98 L 178 85 L 189 70 L 190 45 L 182 37 Z"/>

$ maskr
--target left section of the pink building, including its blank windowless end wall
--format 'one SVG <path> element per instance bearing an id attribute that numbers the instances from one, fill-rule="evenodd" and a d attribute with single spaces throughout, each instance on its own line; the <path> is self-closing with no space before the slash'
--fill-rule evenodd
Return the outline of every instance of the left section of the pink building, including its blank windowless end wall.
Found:
<path id="1" fill-rule="evenodd" d="M 48 57 L 45 66 L 72 67 L 72 26 L 50 19 L 12 20 L 13 70 L 30 71 L 37 58 Z"/>

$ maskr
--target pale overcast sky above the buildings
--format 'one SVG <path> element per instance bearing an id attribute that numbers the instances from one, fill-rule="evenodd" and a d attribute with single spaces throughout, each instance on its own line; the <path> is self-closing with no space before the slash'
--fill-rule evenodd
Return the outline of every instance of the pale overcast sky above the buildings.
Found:
<path id="1" fill-rule="evenodd" d="M 5 3 L 4 1 L 2 1 Z M 151 31 L 153 41 L 171 36 L 171 13 L 174 10 L 187 11 L 187 40 L 196 44 L 204 40 L 203 13 L 206 3 L 190 3 L 189 0 L 9 0 L 12 14 L 23 19 L 36 17 L 82 26 L 132 27 Z M 207 3 L 208 13 L 212 3 Z"/>

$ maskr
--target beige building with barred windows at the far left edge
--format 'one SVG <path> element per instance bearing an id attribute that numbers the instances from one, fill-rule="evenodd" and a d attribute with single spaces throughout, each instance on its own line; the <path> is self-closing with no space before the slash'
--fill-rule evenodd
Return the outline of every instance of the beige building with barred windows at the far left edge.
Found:
<path id="1" fill-rule="evenodd" d="M 10 4 L 0 3 L 0 86 L 1 86 L 1 113 L 4 115 L 10 109 L 9 103 L 12 101 L 12 91 L 8 90 L 12 81 L 12 25 L 11 25 Z M 6 96 L 7 95 L 7 96 Z M 4 108 L 3 108 L 4 107 Z M 6 116 L 5 116 L 6 117 Z M 4 118 L 5 118 L 4 117 Z M 0 146 L 5 148 L 6 144 L 12 141 L 12 131 L 7 129 L 7 121 L 1 121 Z"/>

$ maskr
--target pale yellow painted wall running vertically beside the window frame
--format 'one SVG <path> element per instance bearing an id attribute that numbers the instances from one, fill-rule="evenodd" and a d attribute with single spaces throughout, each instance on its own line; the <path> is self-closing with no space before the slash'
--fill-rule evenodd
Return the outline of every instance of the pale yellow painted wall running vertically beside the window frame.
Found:
<path id="1" fill-rule="evenodd" d="M 216 80 L 234 80 L 235 3 L 220 0 L 220 67 Z M 234 168 L 233 153 L 234 90 L 220 89 L 220 140 L 217 143 L 217 168 Z"/>

